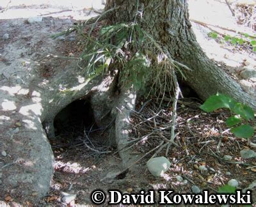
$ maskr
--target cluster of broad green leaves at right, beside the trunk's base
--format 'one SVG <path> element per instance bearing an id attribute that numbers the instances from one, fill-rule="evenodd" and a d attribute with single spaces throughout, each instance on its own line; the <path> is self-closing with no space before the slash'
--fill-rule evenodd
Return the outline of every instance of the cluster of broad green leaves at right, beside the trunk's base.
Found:
<path id="1" fill-rule="evenodd" d="M 236 137 L 244 139 L 252 137 L 254 129 L 249 121 L 253 124 L 255 124 L 255 121 L 254 112 L 251 107 L 236 102 L 233 98 L 220 93 L 210 96 L 204 104 L 200 106 L 200 109 L 205 112 L 212 112 L 221 108 L 229 109 L 233 114 L 226 120 L 227 126 L 231 128 L 230 132 L 236 135 Z"/>

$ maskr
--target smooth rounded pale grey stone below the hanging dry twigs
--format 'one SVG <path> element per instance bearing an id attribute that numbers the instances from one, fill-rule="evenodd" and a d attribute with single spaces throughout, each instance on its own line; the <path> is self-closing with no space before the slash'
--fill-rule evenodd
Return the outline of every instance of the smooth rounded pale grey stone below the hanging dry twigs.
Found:
<path id="1" fill-rule="evenodd" d="M 147 162 L 148 171 L 156 177 L 161 176 L 166 171 L 168 171 L 171 163 L 165 157 L 155 157 L 151 158 Z"/>

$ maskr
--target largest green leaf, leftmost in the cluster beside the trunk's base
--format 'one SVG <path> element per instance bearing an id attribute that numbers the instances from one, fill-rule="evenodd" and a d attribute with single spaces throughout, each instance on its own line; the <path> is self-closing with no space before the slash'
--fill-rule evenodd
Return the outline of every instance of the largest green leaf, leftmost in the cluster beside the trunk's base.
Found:
<path id="1" fill-rule="evenodd" d="M 231 109 L 234 107 L 235 103 L 236 102 L 233 98 L 219 93 L 207 98 L 204 104 L 200 106 L 200 109 L 204 110 L 205 112 L 212 112 L 220 108 Z"/>

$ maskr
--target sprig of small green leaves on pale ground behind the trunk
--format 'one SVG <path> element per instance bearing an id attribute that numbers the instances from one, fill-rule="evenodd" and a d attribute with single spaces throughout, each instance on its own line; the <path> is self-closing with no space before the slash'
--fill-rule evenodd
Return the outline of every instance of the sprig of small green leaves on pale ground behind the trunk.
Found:
<path id="1" fill-rule="evenodd" d="M 237 36 L 219 35 L 214 32 L 208 33 L 208 36 L 212 39 L 225 40 L 225 42 L 230 42 L 232 45 L 250 45 L 253 52 L 256 52 L 256 36 L 250 36 L 246 33 Z"/>

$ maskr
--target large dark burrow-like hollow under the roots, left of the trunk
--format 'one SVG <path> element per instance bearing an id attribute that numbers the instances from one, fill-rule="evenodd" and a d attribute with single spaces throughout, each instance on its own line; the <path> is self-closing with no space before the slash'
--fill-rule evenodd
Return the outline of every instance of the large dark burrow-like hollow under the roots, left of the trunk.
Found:
<path id="1" fill-rule="evenodd" d="M 111 144 L 105 130 L 95 123 L 90 97 L 81 98 L 67 105 L 54 118 L 56 137 L 53 142 L 68 148 L 86 148 L 89 154 L 108 151 Z"/>

